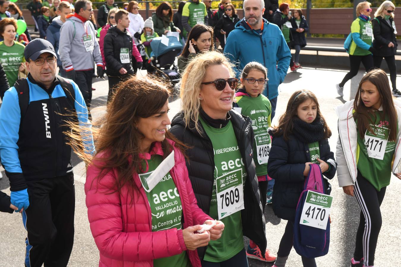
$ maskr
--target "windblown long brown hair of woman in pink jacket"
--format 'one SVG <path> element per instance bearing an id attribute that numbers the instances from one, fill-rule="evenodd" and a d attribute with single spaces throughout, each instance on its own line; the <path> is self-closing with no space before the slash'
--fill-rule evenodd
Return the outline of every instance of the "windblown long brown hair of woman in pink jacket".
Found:
<path id="1" fill-rule="evenodd" d="M 140 118 L 148 118 L 159 112 L 169 96 L 170 90 L 164 84 L 150 78 L 132 76 L 121 83 L 107 106 L 107 113 L 92 127 L 96 145 L 93 156 L 83 149 L 85 138 L 82 137 L 82 126 L 75 125 L 71 127 L 71 132 L 67 132 L 75 153 L 88 166 L 93 165 L 100 170 L 97 181 L 112 170 L 118 173 L 109 193 L 120 191 L 124 186 L 137 189 L 132 177 L 142 171 L 139 154 L 144 135 L 136 128 L 136 124 Z M 185 146 L 169 131 L 166 131 L 165 137 L 174 141 L 174 146 L 180 151 L 184 151 Z M 164 157 L 173 149 L 166 139 L 161 142 Z"/>

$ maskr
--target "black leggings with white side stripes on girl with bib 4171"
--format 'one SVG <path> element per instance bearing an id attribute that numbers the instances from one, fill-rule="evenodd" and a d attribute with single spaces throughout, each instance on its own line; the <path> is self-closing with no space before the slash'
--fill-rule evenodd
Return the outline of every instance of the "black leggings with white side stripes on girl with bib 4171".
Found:
<path id="1" fill-rule="evenodd" d="M 358 231 L 356 232 L 354 259 L 363 258 L 365 266 L 372 266 L 375 260 L 377 238 L 381 228 L 380 205 L 383 202 L 386 187 L 377 191 L 358 171 L 354 184 L 354 194 L 360 206 Z"/>

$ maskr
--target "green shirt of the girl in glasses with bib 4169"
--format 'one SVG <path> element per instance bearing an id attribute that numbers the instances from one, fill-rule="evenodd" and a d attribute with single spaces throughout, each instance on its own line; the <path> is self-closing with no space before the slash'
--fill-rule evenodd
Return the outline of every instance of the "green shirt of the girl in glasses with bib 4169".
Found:
<path id="1" fill-rule="evenodd" d="M 271 138 L 269 135 L 269 127 L 271 125 L 271 104 L 269 99 L 263 94 L 259 94 L 257 97 L 251 96 L 237 96 L 238 106 L 241 108 L 241 114 L 248 116 L 252 120 L 253 134 L 255 140 L 253 143 L 253 161 L 256 165 L 256 175 L 262 176 L 267 175 L 267 162 L 263 159 L 269 157 Z M 265 149 L 263 145 L 270 145 L 268 149 Z"/>

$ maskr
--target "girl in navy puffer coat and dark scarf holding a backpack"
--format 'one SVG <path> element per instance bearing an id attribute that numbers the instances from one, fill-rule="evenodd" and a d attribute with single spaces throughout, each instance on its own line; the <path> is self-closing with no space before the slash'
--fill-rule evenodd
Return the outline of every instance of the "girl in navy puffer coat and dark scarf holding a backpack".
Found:
<path id="1" fill-rule="evenodd" d="M 296 206 L 309 173 L 309 165 L 319 164 L 322 174 L 332 179 L 337 163 L 328 144 L 331 131 L 320 113 L 316 96 L 308 90 L 292 94 L 286 112 L 271 134 L 273 139 L 267 173 L 275 179 L 273 211 L 277 217 L 288 220 L 273 266 L 284 267 L 292 249 Z M 327 181 L 325 186 L 330 194 Z M 314 258 L 302 257 L 302 263 L 316 267 Z"/>

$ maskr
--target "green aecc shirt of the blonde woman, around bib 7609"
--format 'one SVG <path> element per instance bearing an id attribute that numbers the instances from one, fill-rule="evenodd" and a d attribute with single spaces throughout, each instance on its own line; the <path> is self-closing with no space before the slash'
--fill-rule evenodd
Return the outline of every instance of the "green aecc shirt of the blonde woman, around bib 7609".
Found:
<path id="1" fill-rule="evenodd" d="M 221 201 L 217 199 L 216 178 L 221 177 L 225 173 L 239 170 L 242 173 L 243 184 L 245 184 L 247 174 L 231 121 L 225 127 L 217 129 L 209 126 L 200 116 L 199 119 L 213 145 L 215 181 L 213 183 L 209 215 L 213 219 L 218 219 L 217 205 Z M 226 261 L 244 248 L 241 212 L 224 217 L 221 221 L 225 225 L 223 234 L 220 239 L 209 242 L 204 257 L 205 261 Z"/>

